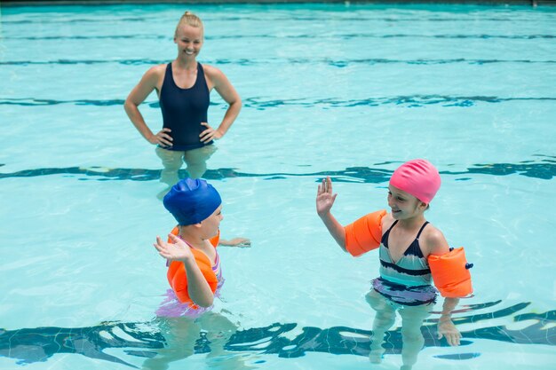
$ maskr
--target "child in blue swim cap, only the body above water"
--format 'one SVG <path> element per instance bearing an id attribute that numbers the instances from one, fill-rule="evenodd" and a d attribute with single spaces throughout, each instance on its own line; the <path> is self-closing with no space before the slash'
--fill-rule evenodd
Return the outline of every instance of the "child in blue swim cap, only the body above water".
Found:
<path id="1" fill-rule="evenodd" d="M 244 238 L 221 240 L 222 199 L 203 179 L 186 178 L 173 185 L 163 204 L 178 226 L 164 242 L 156 237 L 155 248 L 168 260 L 171 291 L 159 316 L 197 317 L 210 310 L 214 296 L 224 284 L 217 246 L 249 246 Z"/>

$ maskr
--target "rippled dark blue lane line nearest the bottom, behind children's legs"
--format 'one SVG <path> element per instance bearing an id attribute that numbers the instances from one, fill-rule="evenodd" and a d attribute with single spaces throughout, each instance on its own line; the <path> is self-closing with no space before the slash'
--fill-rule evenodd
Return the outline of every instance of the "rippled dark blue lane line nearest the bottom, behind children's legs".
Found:
<path id="1" fill-rule="evenodd" d="M 488 305 L 498 303 L 500 301 Z M 438 339 L 438 319 L 425 319 L 424 347 L 449 349 L 452 353 L 442 350 L 435 357 L 459 361 L 481 356 L 481 352 L 466 351 L 466 346 L 477 340 L 520 345 L 556 345 L 556 311 L 521 313 L 529 305 L 528 302 L 517 303 L 495 311 L 472 312 L 457 318 L 457 325 L 467 324 L 467 327 L 460 329 L 463 337 L 461 347 L 454 349 L 449 347 L 445 339 Z M 507 322 L 522 321 L 523 325 L 519 330 L 504 325 L 492 325 L 492 319 L 501 318 Z M 210 353 L 221 345 L 222 349 L 232 353 L 227 358 L 233 358 L 234 352 L 276 355 L 280 358 L 300 358 L 307 353 L 369 357 L 373 339 L 371 331 L 357 327 L 300 327 L 297 323 L 289 322 L 240 329 L 224 319 L 226 318 L 218 318 L 208 330 L 201 331 L 196 326 L 169 325 L 164 318 L 150 322 L 103 322 L 94 327 L 0 329 L 0 356 L 14 359 L 19 366 L 52 361 L 53 356 L 63 353 L 95 358 L 105 361 L 106 365 L 117 363 L 137 367 L 129 361 L 133 358 L 154 358 L 157 353 L 173 352 L 179 346 L 184 346 L 183 341 L 171 340 L 172 336 L 196 339 L 193 348 L 195 354 Z M 218 324 L 222 322 L 224 324 Z M 470 324 L 481 327 L 470 328 Z M 218 342 L 222 343 L 210 342 L 209 337 L 212 335 L 218 335 Z M 401 354 L 402 346 L 401 327 L 389 330 L 385 336 L 385 353 Z M 224 364 L 226 362 L 221 365 Z"/>

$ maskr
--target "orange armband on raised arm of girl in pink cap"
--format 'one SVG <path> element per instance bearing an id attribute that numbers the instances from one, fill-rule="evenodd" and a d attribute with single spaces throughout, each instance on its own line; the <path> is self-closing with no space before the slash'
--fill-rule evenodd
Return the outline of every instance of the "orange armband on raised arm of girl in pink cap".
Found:
<path id="1" fill-rule="evenodd" d="M 382 239 L 382 217 L 385 209 L 362 216 L 352 224 L 344 227 L 346 233 L 346 250 L 352 256 L 361 256 L 380 246 Z"/>

